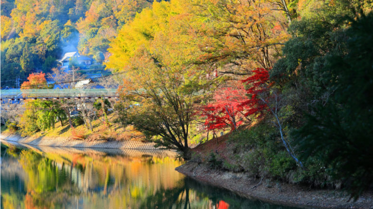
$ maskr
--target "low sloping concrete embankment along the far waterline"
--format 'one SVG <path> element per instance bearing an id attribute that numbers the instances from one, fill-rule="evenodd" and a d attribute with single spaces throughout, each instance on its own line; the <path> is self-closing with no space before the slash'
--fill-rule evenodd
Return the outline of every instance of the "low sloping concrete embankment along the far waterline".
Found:
<path id="1" fill-rule="evenodd" d="M 21 137 L 14 134 L 0 134 L 0 139 L 31 146 L 65 147 L 65 148 L 106 148 L 106 149 L 157 149 L 154 143 L 141 141 L 108 141 L 108 140 L 76 140 L 64 137 Z"/>

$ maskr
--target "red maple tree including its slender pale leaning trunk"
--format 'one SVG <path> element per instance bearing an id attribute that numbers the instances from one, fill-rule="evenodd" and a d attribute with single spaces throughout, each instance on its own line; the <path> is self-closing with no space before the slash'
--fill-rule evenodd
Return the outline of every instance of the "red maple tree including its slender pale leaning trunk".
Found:
<path id="1" fill-rule="evenodd" d="M 216 104 L 209 104 L 204 107 L 203 113 L 207 116 L 205 125 L 208 130 L 215 130 L 224 128 L 230 124 L 231 126 L 234 125 L 232 130 L 235 130 L 237 129 L 237 125 L 242 123 L 242 120 L 236 122 L 237 112 L 244 112 L 242 115 L 245 117 L 254 115 L 257 118 L 262 117 L 265 112 L 271 112 L 276 119 L 277 123 L 275 122 L 275 125 L 280 132 L 281 141 L 285 149 L 295 162 L 304 168 L 289 142 L 285 140 L 281 121 L 278 117 L 280 109 L 278 104 L 279 97 L 276 93 L 270 92 L 271 84 L 269 83 L 269 77 L 268 70 L 257 68 L 253 71 L 253 75 L 241 80 L 242 84 L 248 87 L 246 90 L 235 91 L 229 88 L 223 90 L 224 97 L 216 98 Z M 244 98 L 242 97 L 242 92 L 246 93 Z M 235 99 L 232 99 L 232 97 Z"/>

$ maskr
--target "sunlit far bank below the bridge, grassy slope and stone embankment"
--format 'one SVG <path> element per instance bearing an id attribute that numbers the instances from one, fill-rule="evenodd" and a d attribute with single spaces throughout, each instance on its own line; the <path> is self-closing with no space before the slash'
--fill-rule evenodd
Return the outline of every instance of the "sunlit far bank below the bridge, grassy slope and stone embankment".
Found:
<path id="1" fill-rule="evenodd" d="M 108 119 L 114 119 L 113 114 L 108 115 Z M 106 125 L 100 119 L 92 121 L 93 130 L 87 129 L 82 124 L 75 124 L 73 128 L 68 123 L 55 124 L 54 128 L 35 132 L 25 137 L 21 132 L 11 131 L 5 126 L 1 126 L 1 140 L 10 141 L 17 144 L 32 146 L 49 146 L 65 148 L 95 148 L 95 149 L 156 149 L 155 143 L 143 140 L 143 135 L 133 127 L 123 128 L 118 123 Z"/>

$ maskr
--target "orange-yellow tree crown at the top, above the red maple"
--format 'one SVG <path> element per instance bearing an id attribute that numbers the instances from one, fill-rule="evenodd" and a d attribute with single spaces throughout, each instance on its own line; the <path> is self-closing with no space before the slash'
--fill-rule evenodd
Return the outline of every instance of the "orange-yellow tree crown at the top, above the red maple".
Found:
<path id="1" fill-rule="evenodd" d="M 287 16 L 269 0 L 196 0 L 194 36 L 202 54 L 197 64 L 223 74 L 250 75 L 270 69 L 288 39 Z"/>

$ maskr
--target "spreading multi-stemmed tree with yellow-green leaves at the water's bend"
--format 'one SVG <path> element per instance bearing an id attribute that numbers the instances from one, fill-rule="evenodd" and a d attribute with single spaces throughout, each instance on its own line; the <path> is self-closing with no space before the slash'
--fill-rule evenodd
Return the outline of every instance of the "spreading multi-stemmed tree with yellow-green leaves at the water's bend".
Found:
<path id="1" fill-rule="evenodd" d="M 189 158 L 189 126 L 199 89 L 187 87 L 183 68 L 154 63 L 147 51 L 140 51 L 133 62 L 120 90 L 119 120 Z"/>

